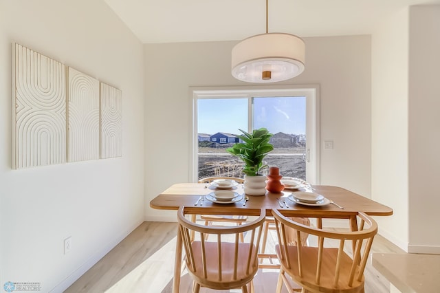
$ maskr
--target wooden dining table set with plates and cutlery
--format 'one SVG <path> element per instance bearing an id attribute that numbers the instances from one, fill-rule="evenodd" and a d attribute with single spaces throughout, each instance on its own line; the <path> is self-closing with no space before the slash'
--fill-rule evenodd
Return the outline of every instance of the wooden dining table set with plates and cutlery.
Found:
<path id="1" fill-rule="evenodd" d="M 159 210 L 178 210 L 180 206 L 185 206 L 189 214 L 193 215 L 257 215 L 261 208 L 266 211 L 266 216 L 272 215 L 272 209 L 281 210 L 283 215 L 287 217 L 321 217 L 321 218 L 346 218 L 350 219 L 351 230 L 358 230 L 358 223 L 356 221 L 356 215 L 358 212 L 364 212 L 373 216 L 389 216 L 393 215 L 393 209 L 388 206 L 384 206 L 378 202 L 373 201 L 352 191 L 348 191 L 345 188 L 337 186 L 324 186 L 314 185 L 307 186 L 306 189 L 300 191 L 310 191 L 319 193 L 325 198 L 338 204 L 327 204 L 325 206 L 306 206 L 303 204 L 296 204 L 292 200 L 288 199 L 292 191 L 285 190 L 282 193 L 269 193 L 267 192 L 262 196 L 248 195 L 248 202 L 243 205 L 244 192 L 243 186 L 239 184 L 234 188 L 227 190 L 233 190 L 240 195 L 243 195 L 243 199 L 239 202 L 232 204 L 219 204 L 210 202 L 204 199 L 202 204 L 197 204 L 197 199 L 204 197 L 209 193 L 212 193 L 215 189 L 208 184 L 201 183 L 178 183 L 173 184 L 165 191 L 157 195 L 151 200 L 151 208 Z M 281 207 L 280 202 L 285 201 L 287 207 Z M 179 232 L 177 232 L 176 243 L 176 255 L 175 255 L 175 272 L 173 279 L 173 292 L 179 292 L 180 285 L 180 268 L 181 268 L 181 254 L 182 243 Z"/>

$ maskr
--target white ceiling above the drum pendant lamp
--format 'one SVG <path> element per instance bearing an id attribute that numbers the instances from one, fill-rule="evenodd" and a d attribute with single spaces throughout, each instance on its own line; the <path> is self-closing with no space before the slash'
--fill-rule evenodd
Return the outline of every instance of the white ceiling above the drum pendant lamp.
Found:
<path id="1" fill-rule="evenodd" d="M 241 40 L 263 34 L 265 0 L 104 0 L 142 43 Z M 440 0 L 268 0 L 268 32 L 371 34 L 411 5 Z"/>

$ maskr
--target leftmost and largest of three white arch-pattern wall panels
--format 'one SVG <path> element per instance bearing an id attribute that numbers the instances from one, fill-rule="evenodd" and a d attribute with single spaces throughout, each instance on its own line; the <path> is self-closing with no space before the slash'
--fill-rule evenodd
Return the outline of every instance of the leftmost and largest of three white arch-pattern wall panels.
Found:
<path id="1" fill-rule="evenodd" d="M 12 168 L 66 160 L 65 65 L 12 43 Z"/>

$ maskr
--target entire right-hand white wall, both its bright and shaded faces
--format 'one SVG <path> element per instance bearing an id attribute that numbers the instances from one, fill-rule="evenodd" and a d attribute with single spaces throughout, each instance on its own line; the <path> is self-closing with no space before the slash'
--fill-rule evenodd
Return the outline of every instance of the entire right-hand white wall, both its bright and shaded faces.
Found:
<path id="1" fill-rule="evenodd" d="M 380 233 L 407 252 L 440 253 L 439 28 L 440 6 L 410 6 L 372 38 L 372 195 L 394 210 Z"/>

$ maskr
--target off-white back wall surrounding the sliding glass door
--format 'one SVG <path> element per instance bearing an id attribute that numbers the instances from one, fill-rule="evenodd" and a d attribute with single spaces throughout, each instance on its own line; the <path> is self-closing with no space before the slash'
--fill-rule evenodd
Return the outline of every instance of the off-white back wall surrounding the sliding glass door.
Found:
<path id="1" fill-rule="evenodd" d="M 189 87 L 248 85 L 232 78 L 230 54 L 236 41 L 144 45 L 145 201 L 168 186 L 188 182 Z M 321 184 L 370 196 L 370 36 L 307 38 L 306 69 L 281 84 L 320 85 Z M 175 220 L 175 212 L 146 207 L 147 220 Z"/>

